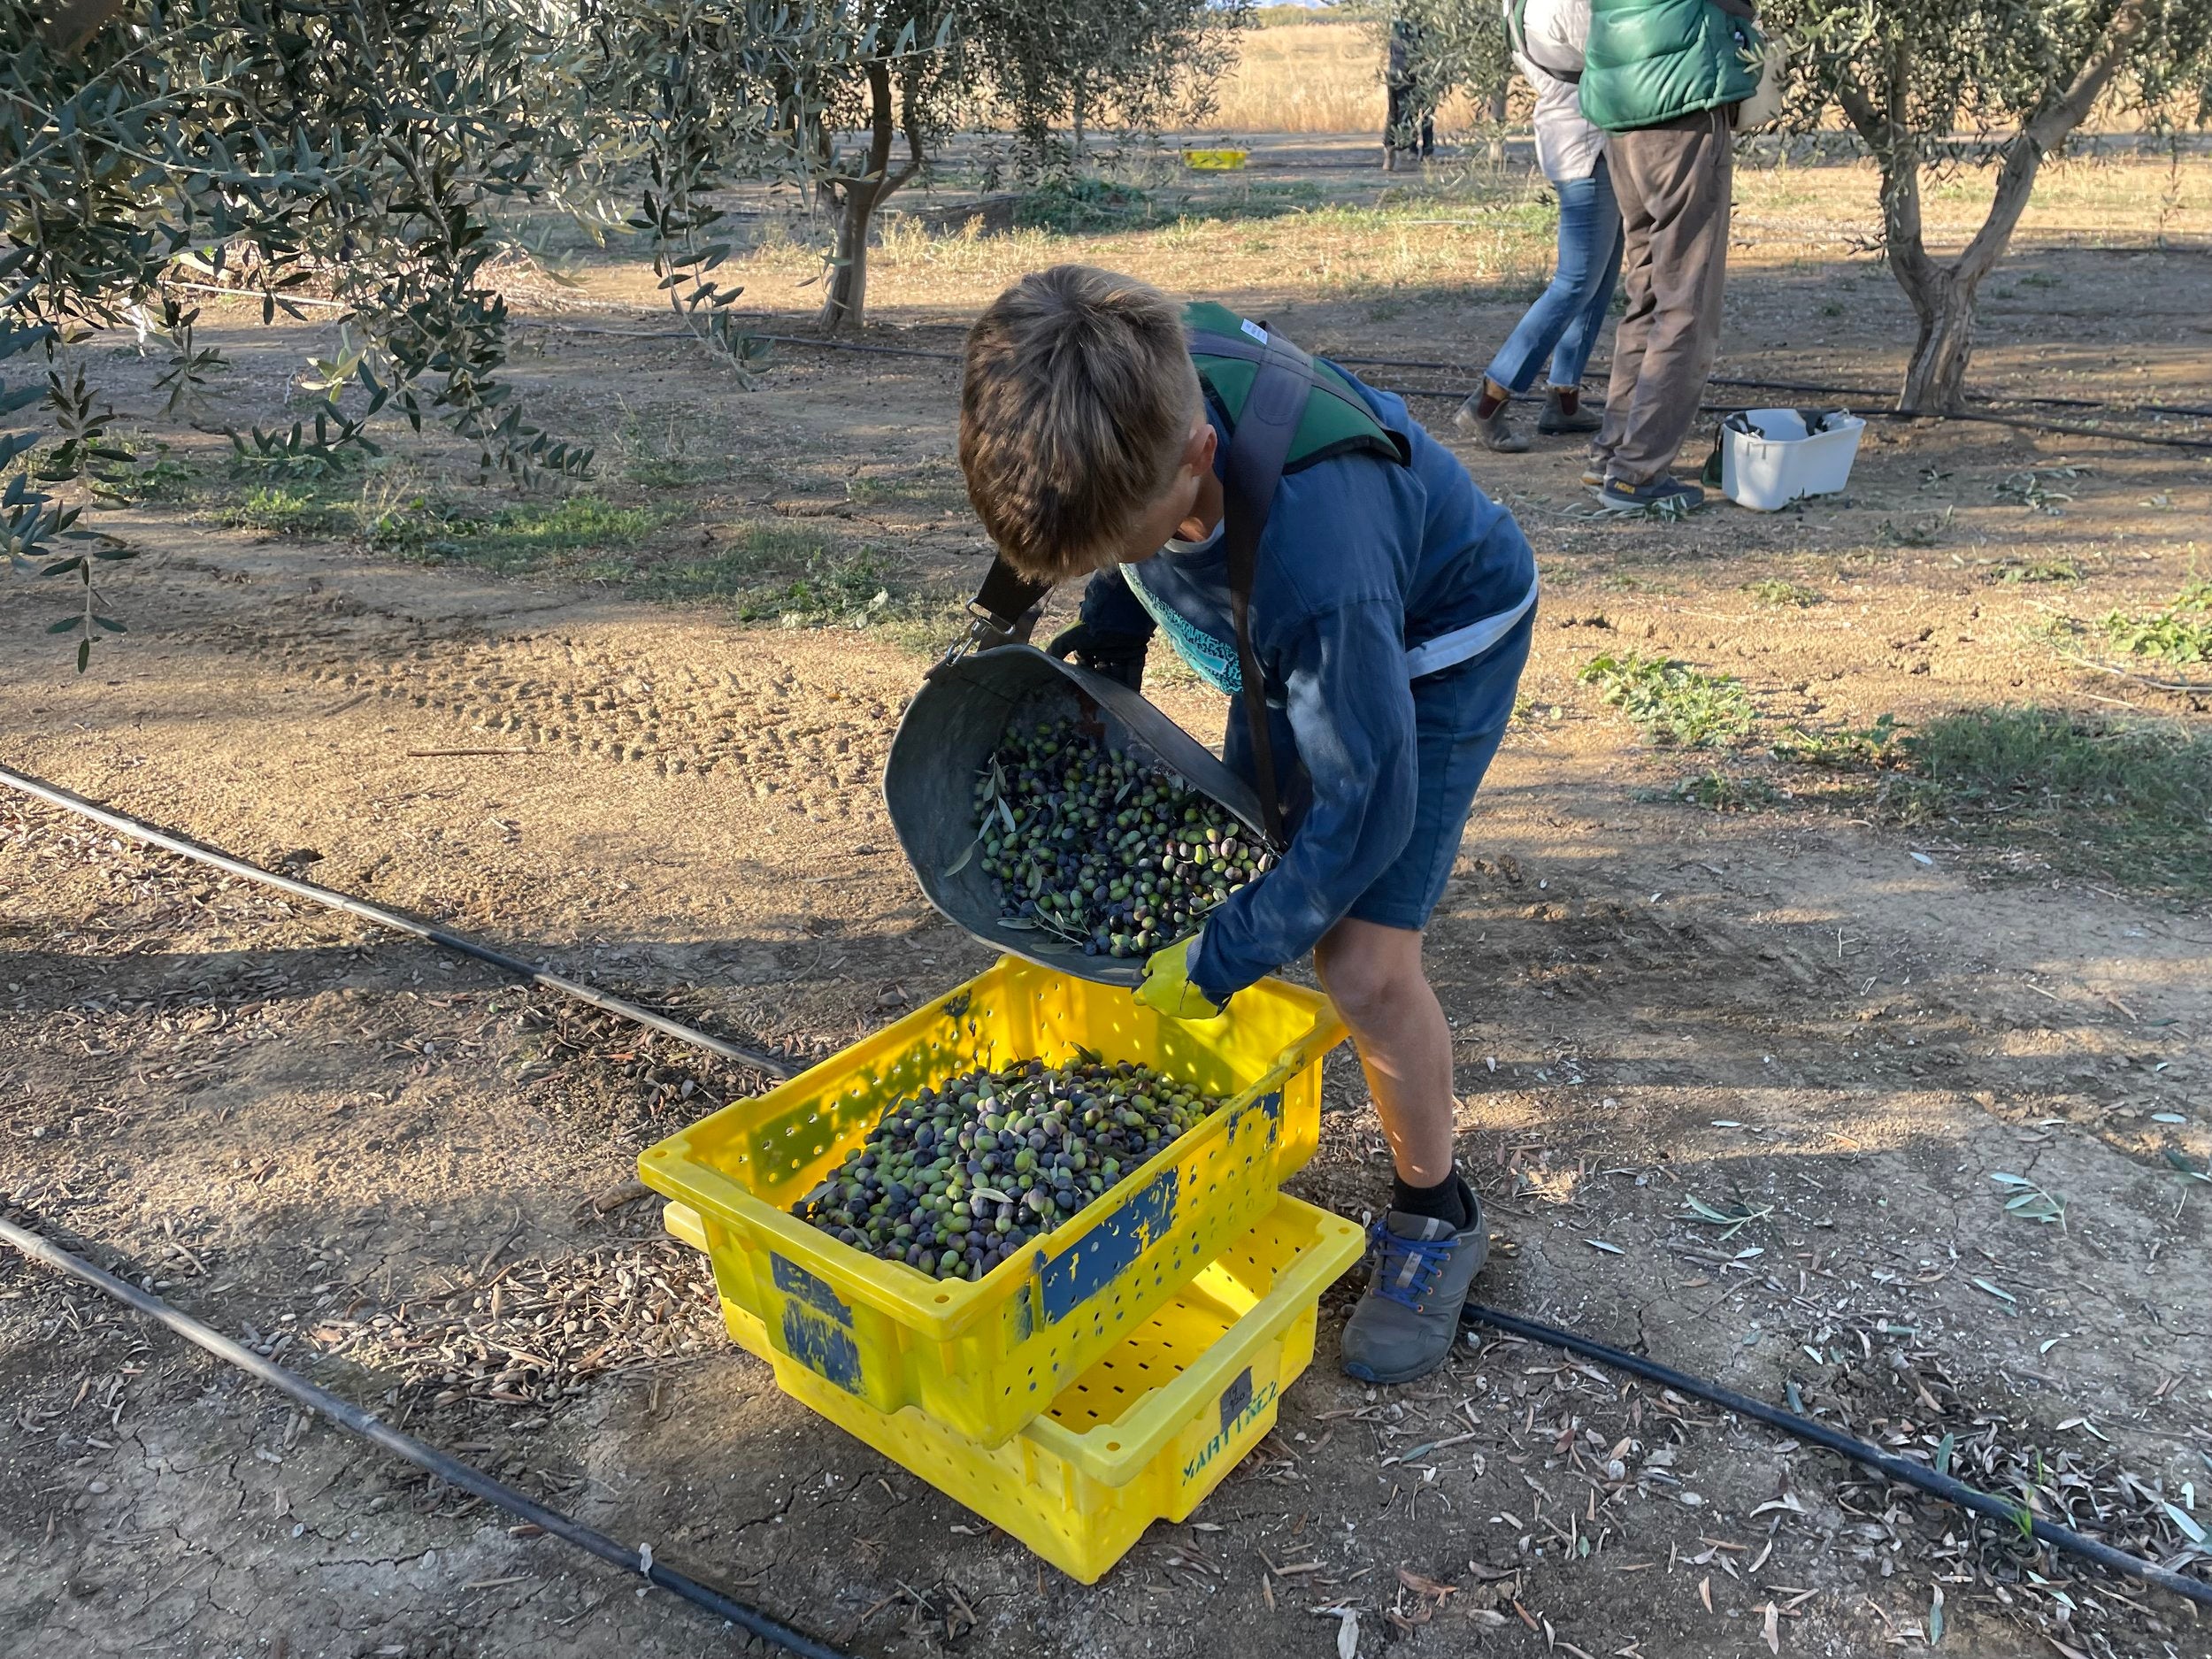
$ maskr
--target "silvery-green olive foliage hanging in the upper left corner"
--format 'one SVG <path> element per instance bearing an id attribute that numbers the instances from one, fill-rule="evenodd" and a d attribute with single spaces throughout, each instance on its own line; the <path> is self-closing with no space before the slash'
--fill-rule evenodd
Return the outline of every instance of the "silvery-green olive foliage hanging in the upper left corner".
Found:
<path id="1" fill-rule="evenodd" d="M 670 305 L 741 358 L 708 197 L 807 168 L 814 88 L 847 51 L 834 9 L 768 0 L 77 0 L 46 27 L 0 11 L 0 418 L 44 405 L 58 436 L 0 434 L 0 538 L 11 566 L 80 584 L 53 624 L 77 633 L 77 666 L 122 626 L 95 571 L 126 557 L 46 489 L 113 484 L 128 460 L 75 352 L 91 330 L 159 338 L 168 409 L 190 414 L 223 367 L 195 338 L 195 294 L 334 319 L 336 354 L 303 378 L 314 407 L 232 434 L 246 467 L 345 469 L 389 409 L 451 427 L 487 476 L 580 473 L 591 449 L 502 378 L 498 210 L 604 228 L 595 204 L 635 188 L 626 228 Z"/>

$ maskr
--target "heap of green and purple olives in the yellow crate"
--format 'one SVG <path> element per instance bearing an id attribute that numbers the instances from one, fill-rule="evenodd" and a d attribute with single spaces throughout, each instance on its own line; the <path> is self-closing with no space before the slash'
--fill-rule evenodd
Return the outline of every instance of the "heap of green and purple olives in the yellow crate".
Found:
<path id="1" fill-rule="evenodd" d="M 936 1279 L 982 1279 L 1217 1106 L 1126 1060 L 962 1073 L 885 1113 L 794 1214 Z"/>

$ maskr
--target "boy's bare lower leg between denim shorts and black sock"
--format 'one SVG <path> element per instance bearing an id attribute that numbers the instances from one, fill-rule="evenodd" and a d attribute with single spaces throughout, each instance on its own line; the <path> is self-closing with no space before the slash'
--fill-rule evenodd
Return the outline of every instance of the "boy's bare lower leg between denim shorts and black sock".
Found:
<path id="1" fill-rule="evenodd" d="M 1343 920 L 1314 949 L 1314 971 L 1352 1026 L 1398 1179 L 1451 1175 L 1451 1026 L 1420 967 L 1420 933 Z"/>

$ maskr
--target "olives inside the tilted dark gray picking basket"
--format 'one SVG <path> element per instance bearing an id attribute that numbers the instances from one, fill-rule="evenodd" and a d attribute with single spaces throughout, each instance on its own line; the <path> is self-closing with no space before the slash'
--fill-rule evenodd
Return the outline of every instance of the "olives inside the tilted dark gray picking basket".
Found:
<path id="1" fill-rule="evenodd" d="M 1006 728 L 975 781 L 1000 920 L 1084 956 L 1148 956 L 1274 867 L 1223 805 L 1075 719 Z"/>

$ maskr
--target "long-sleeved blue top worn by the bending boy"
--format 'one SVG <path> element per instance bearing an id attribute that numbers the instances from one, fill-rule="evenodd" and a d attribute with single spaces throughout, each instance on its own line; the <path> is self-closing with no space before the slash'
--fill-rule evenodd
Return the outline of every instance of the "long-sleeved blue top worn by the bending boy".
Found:
<path id="1" fill-rule="evenodd" d="M 1513 515 L 1475 489 L 1402 398 L 1354 385 L 1411 442 L 1411 465 L 1340 453 L 1276 487 L 1252 588 L 1252 650 L 1290 849 L 1206 918 L 1192 982 L 1214 1002 L 1314 949 L 1402 852 L 1420 787 L 1407 650 L 1511 611 L 1535 584 L 1535 555 Z M 1212 398 L 1208 418 L 1221 473 L 1232 438 Z M 1155 604 L 1208 637 L 1206 655 L 1234 664 L 1219 538 L 1192 553 L 1161 551 L 1137 573 Z M 1155 630 L 1121 571 L 1091 577 L 1082 615 L 1097 630 Z M 1250 776 L 1241 703 L 1230 708 L 1223 750 Z"/>

